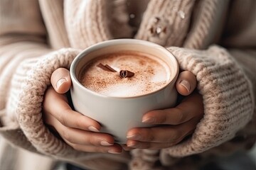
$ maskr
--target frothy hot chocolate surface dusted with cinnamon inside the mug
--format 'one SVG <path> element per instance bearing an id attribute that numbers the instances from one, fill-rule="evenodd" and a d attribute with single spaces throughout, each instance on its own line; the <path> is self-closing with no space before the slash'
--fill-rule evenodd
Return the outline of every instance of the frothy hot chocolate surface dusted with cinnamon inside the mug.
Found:
<path id="1" fill-rule="evenodd" d="M 150 94 L 170 81 L 171 70 L 163 60 L 137 51 L 101 55 L 82 69 L 80 83 L 91 91 L 114 97 Z"/>

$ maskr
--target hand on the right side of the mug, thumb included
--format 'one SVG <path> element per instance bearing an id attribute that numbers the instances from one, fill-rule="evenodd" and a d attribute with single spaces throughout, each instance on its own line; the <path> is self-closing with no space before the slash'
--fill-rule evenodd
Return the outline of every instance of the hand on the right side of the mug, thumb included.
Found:
<path id="1" fill-rule="evenodd" d="M 179 94 L 185 96 L 175 108 L 146 113 L 143 123 L 153 128 L 133 128 L 127 132 L 125 150 L 164 149 L 178 144 L 191 135 L 203 118 L 203 99 L 196 89 L 196 77 L 188 71 L 181 72 L 176 81 Z"/>

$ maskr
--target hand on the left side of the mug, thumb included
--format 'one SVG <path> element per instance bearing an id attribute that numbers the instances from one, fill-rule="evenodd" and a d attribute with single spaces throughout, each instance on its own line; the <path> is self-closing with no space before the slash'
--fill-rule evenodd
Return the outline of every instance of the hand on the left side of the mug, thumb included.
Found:
<path id="1" fill-rule="evenodd" d="M 97 121 L 70 108 L 65 95 L 71 86 L 68 69 L 56 69 L 50 82 L 52 86 L 48 87 L 43 101 L 43 118 L 46 124 L 53 127 L 76 150 L 112 154 L 122 152 L 122 147 L 114 144 L 111 135 L 100 132 L 101 127 Z"/>

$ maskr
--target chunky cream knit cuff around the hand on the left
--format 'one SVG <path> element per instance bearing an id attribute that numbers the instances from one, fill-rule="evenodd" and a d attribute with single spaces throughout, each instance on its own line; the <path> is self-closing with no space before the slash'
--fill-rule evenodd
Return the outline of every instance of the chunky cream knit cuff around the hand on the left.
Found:
<path id="1" fill-rule="evenodd" d="M 84 155 L 84 153 L 75 151 L 63 140 L 55 137 L 42 119 L 42 102 L 45 91 L 50 86 L 51 74 L 60 67 L 69 69 L 71 62 L 79 52 L 80 50 L 61 49 L 40 58 L 34 58 L 33 61 L 26 60 L 20 64 L 16 74 L 21 74 L 24 70 L 29 71 L 26 71 L 26 75 L 23 77 L 21 75 L 14 76 L 13 81 L 20 82 L 20 86 L 11 92 L 14 93 L 17 88 L 20 89 L 17 95 L 16 108 L 14 108 L 16 122 L 24 138 L 31 143 L 36 151 L 43 154 L 54 157 Z M 14 141 L 13 139 L 10 140 Z"/>

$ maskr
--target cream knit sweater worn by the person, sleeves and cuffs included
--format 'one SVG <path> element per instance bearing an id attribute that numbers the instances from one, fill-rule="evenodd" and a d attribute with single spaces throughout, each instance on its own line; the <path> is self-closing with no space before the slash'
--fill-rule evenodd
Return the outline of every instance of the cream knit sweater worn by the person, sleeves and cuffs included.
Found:
<path id="1" fill-rule="evenodd" d="M 153 169 L 156 160 L 175 166 L 193 154 L 248 149 L 256 137 L 255 16 L 254 0 L 0 0 L 1 137 L 89 169 Z M 44 125 L 41 106 L 52 72 L 69 68 L 85 47 L 113 38 L 163 45 L 196 75 L 204 116 L 188 140 L 160 151 L 85 153 Z"/>

